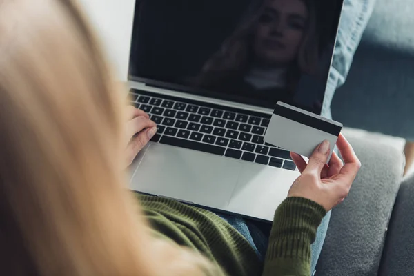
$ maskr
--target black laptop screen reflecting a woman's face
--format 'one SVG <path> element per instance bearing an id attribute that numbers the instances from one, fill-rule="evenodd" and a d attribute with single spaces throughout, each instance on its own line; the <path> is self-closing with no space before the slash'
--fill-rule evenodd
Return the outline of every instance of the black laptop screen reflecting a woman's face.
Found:
<path id="1" fill-rule="evenodd" d="M 141 0 L 129 79 L 320 114 L 343 0 Z"/>

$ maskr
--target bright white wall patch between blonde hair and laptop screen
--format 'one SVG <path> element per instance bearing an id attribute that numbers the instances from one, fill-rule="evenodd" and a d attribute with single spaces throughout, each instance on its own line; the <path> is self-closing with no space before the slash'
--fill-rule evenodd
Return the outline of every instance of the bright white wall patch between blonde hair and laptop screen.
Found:
<path id="1" fill-rule="evenodd" d="M 97 29 L 117 77 L 126 81 L 135 0 L 79 0 Z"/>

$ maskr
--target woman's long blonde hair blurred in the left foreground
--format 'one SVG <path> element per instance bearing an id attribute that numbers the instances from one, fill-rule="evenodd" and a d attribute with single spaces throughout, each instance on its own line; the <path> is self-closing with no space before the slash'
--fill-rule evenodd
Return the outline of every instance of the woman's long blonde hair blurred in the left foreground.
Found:
<path id="1" fill-rule="evenodd" d="M 199 275 L 126 186 L 126 95 L 69 0 L 0 0 L 4 275 Z"/>

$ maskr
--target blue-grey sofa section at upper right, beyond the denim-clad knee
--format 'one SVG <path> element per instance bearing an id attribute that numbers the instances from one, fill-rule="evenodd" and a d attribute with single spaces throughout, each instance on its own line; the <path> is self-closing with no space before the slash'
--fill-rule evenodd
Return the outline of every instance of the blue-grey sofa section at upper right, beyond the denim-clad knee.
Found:
<path id="1" fill-rule="evenodd" d="M 333 119 L 414 140 L 414 1 L 377 0 Z"/>

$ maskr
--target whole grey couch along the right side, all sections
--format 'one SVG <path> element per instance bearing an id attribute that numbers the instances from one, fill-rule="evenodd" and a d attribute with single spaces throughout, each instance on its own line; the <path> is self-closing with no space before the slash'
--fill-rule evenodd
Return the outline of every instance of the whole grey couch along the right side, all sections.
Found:
<path id="1" fill-rule="evenodd" d="M 413 103 L 414 1 L 377 0 L 333 118 L 413 140 Z M 402 179 L 402 150 L 381 135 L 350 141 L 363 166 L 333 210 L 316 275 L 414 275 L 414 177 Z"/>

